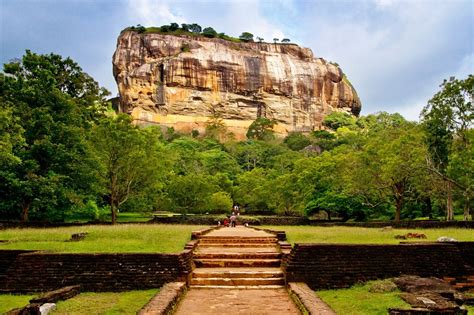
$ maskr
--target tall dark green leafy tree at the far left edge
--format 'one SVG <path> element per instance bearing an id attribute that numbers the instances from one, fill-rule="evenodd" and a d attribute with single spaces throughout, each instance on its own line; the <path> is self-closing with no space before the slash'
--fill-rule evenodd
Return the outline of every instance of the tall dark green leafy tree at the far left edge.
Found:
<path id="1" fill-rule="evenodd" d="M 105 111 L 107 91 L 73 60 L 30 51 L 0 74 L 0 213 L 63 220 L 94 198 L 95 161 L 84 134 Z M 19 211 L 18 211 L 19 209 Z"/>

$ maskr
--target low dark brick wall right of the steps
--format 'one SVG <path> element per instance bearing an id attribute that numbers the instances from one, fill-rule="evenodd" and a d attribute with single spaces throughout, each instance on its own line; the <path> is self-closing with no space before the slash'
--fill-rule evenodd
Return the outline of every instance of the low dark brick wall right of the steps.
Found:
<path id="1" fill-rule="evenodd" d="M 306 282 L 316 290 L 401 274 L 465 276 L 472 272 L 473 254 L 472 243 L 296 244 L 284 268 L 288 282 Z"/>

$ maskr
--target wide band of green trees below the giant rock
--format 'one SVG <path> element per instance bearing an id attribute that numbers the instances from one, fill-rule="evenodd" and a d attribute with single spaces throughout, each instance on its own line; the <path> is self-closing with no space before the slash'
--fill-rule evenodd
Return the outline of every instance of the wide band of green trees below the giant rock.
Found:
<path id="1" fill-rule="evenodd" d="M 256 119 L 235 141 L 219 114 L 206 134 L 138 127 L 70 58 L 27 51 L 0 73 L 0 218 L 116 221 L 167 210 L 343 220 L 469 217 L 474 77 L 445 81 L 420 123 L 335 112 L 325 130 L 273 134 Z"/>

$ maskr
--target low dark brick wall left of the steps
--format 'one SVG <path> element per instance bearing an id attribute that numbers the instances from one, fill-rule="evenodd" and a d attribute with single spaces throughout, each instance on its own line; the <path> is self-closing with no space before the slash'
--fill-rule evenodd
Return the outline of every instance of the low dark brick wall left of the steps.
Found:
<path id="1" fill-rule="evenodd" d="M 66 254 L 0 251 L 0 290 L 50 291 L 81 285 L 84 291 L 159 288 L 186 281 L 192 252 L 179 254 Z"/>

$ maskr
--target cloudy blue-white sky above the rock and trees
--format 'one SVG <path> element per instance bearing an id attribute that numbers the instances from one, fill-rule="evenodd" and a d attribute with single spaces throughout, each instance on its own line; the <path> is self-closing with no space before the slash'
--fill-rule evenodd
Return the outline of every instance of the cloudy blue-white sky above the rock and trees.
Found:
<path id="1" fill-rule="evenodd" d="M 474 73 L 474 0 L 0 0 L 0 62 L 71 57 L 115 96 L 120 31 L 171 22 L 309 47 L 341 66 L 363 115 L 418 120 L 444 79 Z"/>

